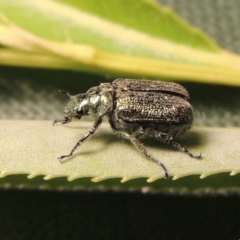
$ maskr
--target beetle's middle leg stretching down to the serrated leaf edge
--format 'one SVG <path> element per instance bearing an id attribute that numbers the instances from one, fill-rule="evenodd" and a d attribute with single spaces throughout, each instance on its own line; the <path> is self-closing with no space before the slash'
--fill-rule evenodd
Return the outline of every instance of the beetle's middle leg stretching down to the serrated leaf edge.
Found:
<path id="1" fill-rule="evenodd" d="M 130 134 L 126 133 L 126 132 L 121 132 L 121 131 L 116 131 L 116 130 L 115 130 L 115 133 L 118 136 L 129 140 L 133 144 L 133 146 L 137 150 L 139 150 L 141 153 L 143 153 L 148 159 L 150 159 L 151 161 L 153 161 L 153 162 L 157 163 L 158 165 L 160 165 L 162 167 L 163 171 L 164 171 L 165 178 L 168 178 L 168 170 L 165 167 L 165 165 L 161 161 L 159 161 L 156 158 L 152 157 L 150 155 L 150 153 L 147 151 L 147 149 L 144 147 L 144 145 L 134 135 L 130 135 Z"/>

